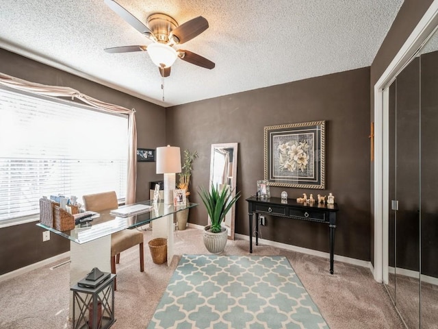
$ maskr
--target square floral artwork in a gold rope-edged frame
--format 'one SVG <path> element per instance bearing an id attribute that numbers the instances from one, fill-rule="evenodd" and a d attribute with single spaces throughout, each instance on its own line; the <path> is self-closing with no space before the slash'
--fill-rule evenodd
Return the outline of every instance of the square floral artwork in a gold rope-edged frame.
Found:
<path id="1" fill-rule="evenodd" d="M 325 188 L 325 121 L 264 127 L 264 179 L 270 186 Z"/>

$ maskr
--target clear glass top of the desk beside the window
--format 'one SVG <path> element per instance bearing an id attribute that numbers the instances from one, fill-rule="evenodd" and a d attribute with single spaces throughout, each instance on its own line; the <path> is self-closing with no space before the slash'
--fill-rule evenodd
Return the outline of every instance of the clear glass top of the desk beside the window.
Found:
<path id="1" fill-rule="evenodd" d="M 55 228 L 45 226 L 42 223 L 38 223 L 36 225 L 60 236 L 64 236 L 64 238 L 69 239 L 70 241 L 82 244 L 100 239 L 103 236 L 107 236 L 121 230 L 143 226 L 151 221 L 154 221 L 155 219 L 173 215 L 181 210 L 198 206 L 198 204 L 194 203 L 188 203 L 186 206 L 173 206 L 173 204 L 163 204 L 163 202 L 154 205 L 153 200 L 137 202 L 136 204 L 145 204 L 152 206 L 152 208 L 146 212 L 129 217 L 117 217 L 111 215 L 110 210 L 104 210 L 99 212 L 99 217 L 94 218 L 92 221 L 78 224 L 73 230 L 67 231 L 59 231 Z M 132 204 L 127 206 L 132 206 Z M 127 206 L 120 206 L 119 209 Z"/>

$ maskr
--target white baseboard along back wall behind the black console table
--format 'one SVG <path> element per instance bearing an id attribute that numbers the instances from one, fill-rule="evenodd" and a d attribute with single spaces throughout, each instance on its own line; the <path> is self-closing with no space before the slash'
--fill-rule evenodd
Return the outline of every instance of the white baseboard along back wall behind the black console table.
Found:
<path id="1" fill-rule="evenodd" d="M 198 230 L 203 230 L 203 228 L 204 228 L 204 226 L 196 225 L 196 224 L 192 224 L 192 223 L 188 223 L 188 226 L 190 228 L 197 228 Z M 249 241 L 249 236 L 244 235 L 244 234 L 235 234 L 235 238 L 240 239 L 240 240 Z M 265 239 L 259 239 L 259 244 L 271 245 L 272 247 L 278 247 L 281 249 L 291 250 L 292 252 L 300 252 L 302 254 L 309 254 L 309 255 L 313 255 L 313 256 L 319 256 L 322 258 L 330 259 L 329 252 L 319 252 L 318 250 L 297 247 L 296 245 L 287 245 L 285 243 L 280 243 L 280 242 L 275 242 L 275 241 L 270 241 L 270 240 L 265 240 Z M 253 237 L 253 248 L 254 247 L 255 247 L 255 238 Z M 350 258 L 350 257 L 345 257 L 345 256 L 339 256 L 339 255 L 335 255 L 334 259 L 339 261 L 339 262 L 348 263 L 348 264 L 352 264 L 352 265 L 358 265 L 361 267 L 368 267 L 369 269 L 372 269 L 372 264 L 370 261 L 360 260 L 360 259 Z M 372 269 L 372 271 L 373 271 L 373 269 Z"/>

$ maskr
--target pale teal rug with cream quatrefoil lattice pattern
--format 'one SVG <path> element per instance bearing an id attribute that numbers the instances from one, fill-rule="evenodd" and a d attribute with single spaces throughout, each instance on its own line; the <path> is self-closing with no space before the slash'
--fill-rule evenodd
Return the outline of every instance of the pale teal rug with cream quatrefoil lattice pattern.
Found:
<path id="1" fill-rule="evenodd" d="M 283 256 L 183 255 L 153 328 L 329 328 Z"/>

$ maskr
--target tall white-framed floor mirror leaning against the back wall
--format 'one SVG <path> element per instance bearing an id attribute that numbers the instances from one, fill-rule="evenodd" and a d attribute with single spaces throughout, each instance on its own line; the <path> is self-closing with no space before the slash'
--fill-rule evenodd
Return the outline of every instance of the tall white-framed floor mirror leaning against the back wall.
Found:
<path id="1" fill-rule="evenodd" d="M 230 186 L 232 197 L 236 193 L 237 143 L 211 144 L 210 182 L 222 189 Z M 234 240 L 235 205 L 227 213 L 222 226 L 227 228 L 228 239 Z"/>

